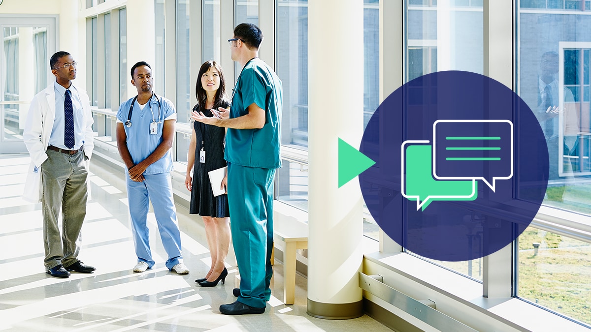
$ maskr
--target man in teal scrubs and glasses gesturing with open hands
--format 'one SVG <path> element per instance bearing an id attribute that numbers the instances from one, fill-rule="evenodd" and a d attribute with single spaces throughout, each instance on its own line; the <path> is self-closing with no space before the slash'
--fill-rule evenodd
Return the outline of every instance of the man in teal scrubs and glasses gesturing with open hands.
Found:
<path id="1" fill-rule="evenodd" d="M 225 159 L 228 161 L 228 204 L 232 216 L 232 241 L 240 269 L 238 300 L 220 305 L 226 315 L 262 314 L 271 297 L 273 274 L 273 179 L 281 167 L 281 81 L 258 58 L 262 31 L 242 23 L 228 42 L 232 60 L 242 71 L 230 109 L 212 110 L 207 118 L 191 118 L 228 128 Z"/>

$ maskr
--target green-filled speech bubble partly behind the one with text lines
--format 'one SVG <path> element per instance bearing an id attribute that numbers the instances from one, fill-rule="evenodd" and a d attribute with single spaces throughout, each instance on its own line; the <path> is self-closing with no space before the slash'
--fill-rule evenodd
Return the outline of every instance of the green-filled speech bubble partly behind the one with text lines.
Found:
<path id="1" fill-rule="evenodd" d="M 408 200 L 416 200 L 417 210 L 421 208 L 425 210 L 432 201 L 436 200 L 475 200 L 478 196 L 476 180 L 438 181 L 433 178 L 431 145 L 410 145 L 428 142 L 405 141 L 402 143 L 402 196 Z"/>

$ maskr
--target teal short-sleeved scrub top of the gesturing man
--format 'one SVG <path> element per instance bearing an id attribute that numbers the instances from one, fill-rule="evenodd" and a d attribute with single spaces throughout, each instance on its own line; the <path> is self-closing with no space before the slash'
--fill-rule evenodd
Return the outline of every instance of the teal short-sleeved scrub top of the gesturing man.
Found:
<path id="1" fill-rule="evenodd" d="M 265 110 L 261 129 L 228 129 L 225 159 L 232 164 L 259 167 L 281 167 L 282 87 L 277 74 L 259 58 L 249 61 L 236 82 L 230 118 L 246 115 L 255 103 Z"/>

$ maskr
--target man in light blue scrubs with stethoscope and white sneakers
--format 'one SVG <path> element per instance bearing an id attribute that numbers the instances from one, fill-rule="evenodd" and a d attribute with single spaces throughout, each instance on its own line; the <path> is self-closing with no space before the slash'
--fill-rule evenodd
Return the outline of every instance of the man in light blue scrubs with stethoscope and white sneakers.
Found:
<path id="1" fill-rule="evenodd" d="M 170 171 L 173 159 L 173 103 L 152 92 L 154 77 L 149 64 L 140 61 L 131 68 L 131 84 L 138 95 L 122 103 L 117 113 L 117 147 L 127 168 L 129 214 L 138 263 L 134 272 L 154 266 L 147 226 L 148 203 L 152 202 L 164 250 L 166 267 L 177 274 L 188 274 L 183 264 L 181 237 L 173 200 Z"/>

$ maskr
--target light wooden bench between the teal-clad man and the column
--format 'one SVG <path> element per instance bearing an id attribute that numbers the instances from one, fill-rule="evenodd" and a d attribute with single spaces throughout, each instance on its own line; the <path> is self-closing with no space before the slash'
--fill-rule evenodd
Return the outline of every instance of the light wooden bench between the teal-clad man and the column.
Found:
<path id="1" fill-rule="evenodd" d="M 308 249 L 308 224 L 294 217 L 277 216 L 273 220 L 274 246 L 283 252 L 283 301 L 294 304 L 296 297 L 296 250 Z M 274 250 L 275 251 L 275 250 Z M 274 256 L 271 256 L 271 264 Z"/>

